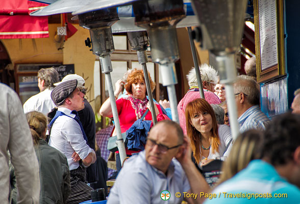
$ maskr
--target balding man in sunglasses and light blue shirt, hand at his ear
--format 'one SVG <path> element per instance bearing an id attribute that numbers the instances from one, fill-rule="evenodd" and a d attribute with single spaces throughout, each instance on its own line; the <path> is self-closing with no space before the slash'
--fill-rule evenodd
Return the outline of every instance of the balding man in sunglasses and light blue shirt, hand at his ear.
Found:
<path id="1" fill-rule="evenodd" d="M 108 204 L 181 203 L 183 199 L 201 203 L 205 198 L 199 193 L 208 191 L 208 184 L 192 163 L 189 141 L 180 125 L 163 120 L 152 127 L 145 150 L 124 163 Z M 193 197 L 184 196 L 187 193 L 194 193 L 189 194 Z"/>

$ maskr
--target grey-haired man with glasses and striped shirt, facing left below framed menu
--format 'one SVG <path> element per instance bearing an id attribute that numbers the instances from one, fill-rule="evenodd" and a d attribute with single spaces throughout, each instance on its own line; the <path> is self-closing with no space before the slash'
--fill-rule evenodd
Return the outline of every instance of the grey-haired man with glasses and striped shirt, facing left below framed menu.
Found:
<path id="1" fill-rule="evenodd" d="M 233 85 L 240 132 L 265 130 L 269 118 L 260 110 L 260 88 L 256 81 L 239 76 Z"/>

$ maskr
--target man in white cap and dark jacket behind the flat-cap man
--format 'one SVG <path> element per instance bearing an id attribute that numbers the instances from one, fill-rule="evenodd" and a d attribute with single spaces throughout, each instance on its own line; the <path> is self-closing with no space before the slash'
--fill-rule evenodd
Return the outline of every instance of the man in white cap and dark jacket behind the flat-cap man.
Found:
<path id="1" fill-rule="evenodd" d="M 59 84 L 69 81 L 69 80 L 77 80 L 77 88 L 79 88 L 80 92 L 86 94 L 85 88 L 85 80 L 78 74 L 68 74 L 66 75 L 61 82 L 55 83 L 54 86 L 58 86 Z M 88 145 L 93 150 L 95 150 L 95 137 L 96 137 L 96 122 L 95 122 L 95 114 L 93 108 L 91 107 L 89 101 L 84 98 L 84 109 L 78 111 L 80 122 L 82 123 L 83 130 L 86 134 Z M 56 111 L 55 111 L 56 112 Z M 53 113 L 52 113 L 53 114 Z M 54 113 L 55 114 L 55 113 Z M 97 182 L 98 175 L 96 164 L 91 164 L 87 168 L 87 181 L 89 183 Z"/>

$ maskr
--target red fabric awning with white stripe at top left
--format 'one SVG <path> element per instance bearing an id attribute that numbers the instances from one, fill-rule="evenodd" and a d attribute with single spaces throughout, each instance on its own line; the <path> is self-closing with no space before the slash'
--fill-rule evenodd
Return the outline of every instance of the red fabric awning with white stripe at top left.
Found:
<path id="1" fill-rule="evenodd" d="M 48 17 L 29 13 L 47 4 L 28 0 L 2 0 L 0 8 L 0 38 L 47 38 Z"/>

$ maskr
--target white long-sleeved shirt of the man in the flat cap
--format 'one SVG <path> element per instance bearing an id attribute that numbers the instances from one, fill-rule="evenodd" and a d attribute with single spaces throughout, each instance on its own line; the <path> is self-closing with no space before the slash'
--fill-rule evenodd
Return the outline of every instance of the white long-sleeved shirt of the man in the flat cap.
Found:
<path id="1" fill-rule="evenodd" d="M 71 114 L 71 110 L 67 108 L 59 107 L 58 111 L 72 118 L 75 117 L 75 114 Z M 50 146 L 58 149 L 67 157 L 70 170 L 79 167 L 79 162 L 74 162 L 72 159 L 74 151 L 82 160 L 93 151 L 84 140 L 78 122 L 72 118 L 65 115 L 59 116 L 52 125 L 49 140 Z"/>

